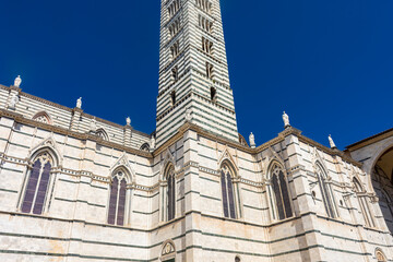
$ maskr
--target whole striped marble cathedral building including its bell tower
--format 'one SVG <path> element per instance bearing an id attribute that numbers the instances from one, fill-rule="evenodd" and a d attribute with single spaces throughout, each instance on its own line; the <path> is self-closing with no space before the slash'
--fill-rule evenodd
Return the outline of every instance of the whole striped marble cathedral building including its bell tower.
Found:
<path id="1" fill-rule="evenodd" d="M 152 134 L 0 85 L 0 260 L 393 261 L 393 130 L 248 143 L 219 0 L 160 16 Z"/>

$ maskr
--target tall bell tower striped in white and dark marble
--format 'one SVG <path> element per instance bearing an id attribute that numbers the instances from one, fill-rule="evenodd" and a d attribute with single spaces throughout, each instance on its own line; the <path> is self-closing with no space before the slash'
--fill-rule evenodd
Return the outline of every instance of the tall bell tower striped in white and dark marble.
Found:
<path id="1" fill-rule="evenodd" d="M 186 122 L 238 141 L 219 0 L 162 0 L 156 142 Z"/>

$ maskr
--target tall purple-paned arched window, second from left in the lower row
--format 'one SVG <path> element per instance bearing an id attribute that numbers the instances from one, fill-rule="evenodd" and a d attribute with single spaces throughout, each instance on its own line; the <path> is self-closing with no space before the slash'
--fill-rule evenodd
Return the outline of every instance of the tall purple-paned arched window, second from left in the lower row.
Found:
<path id="1" fill-rule="evenodd" d="M 127 202 L 127 177 L 123 170 L 117 170 L 112 175 L 109 196 L 108 224 L 124 225 Z"/>

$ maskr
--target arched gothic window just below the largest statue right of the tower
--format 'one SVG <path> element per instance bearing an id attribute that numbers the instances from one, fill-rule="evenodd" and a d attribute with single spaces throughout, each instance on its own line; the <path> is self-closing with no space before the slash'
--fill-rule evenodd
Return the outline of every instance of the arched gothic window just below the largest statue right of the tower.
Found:
<path id="1" fill-rule="evenodd" d="M 281 165 L 274 164 L 270 169 L 270 199 L 274 219 L 285 219 L 293 216 L 290 194 L 284 170 Z"/>

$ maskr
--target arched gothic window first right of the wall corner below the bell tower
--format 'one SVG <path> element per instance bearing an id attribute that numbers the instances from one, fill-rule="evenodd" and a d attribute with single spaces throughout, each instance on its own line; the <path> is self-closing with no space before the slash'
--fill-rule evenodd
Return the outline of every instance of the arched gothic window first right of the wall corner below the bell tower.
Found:
<path id="1" fill-rule="evenodd" d="M 234 174 L 228 165 L 223 165 L 221 170 L 221 184 L 223 193 L 224 216 L 236 219 L 235 190 L 233 183 Z"/>

